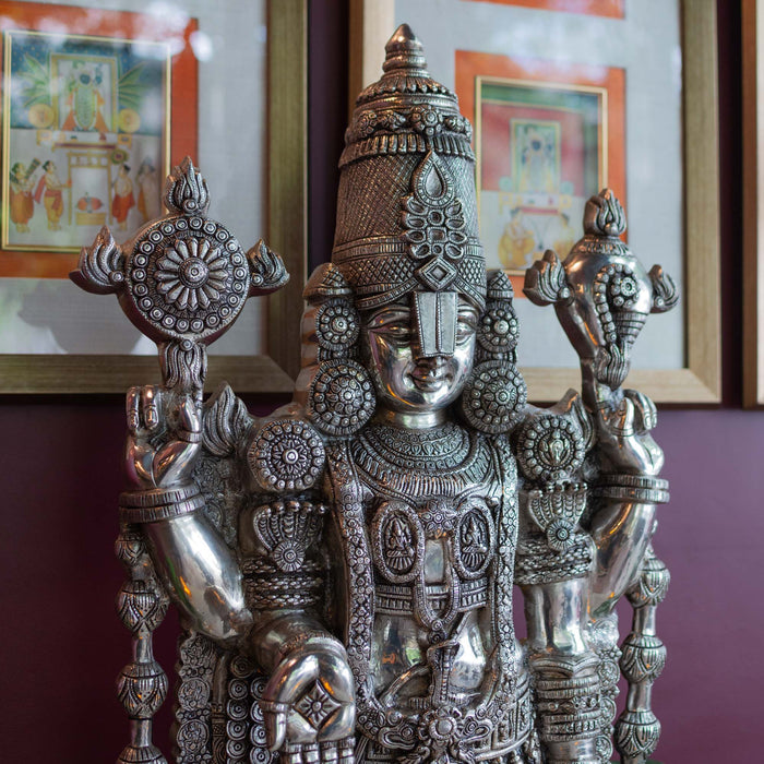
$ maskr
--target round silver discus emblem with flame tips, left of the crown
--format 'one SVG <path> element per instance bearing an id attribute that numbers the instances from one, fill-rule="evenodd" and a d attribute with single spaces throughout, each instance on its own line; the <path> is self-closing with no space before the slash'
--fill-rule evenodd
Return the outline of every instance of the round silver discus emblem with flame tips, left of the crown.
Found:
<path id="1" fill-rule="evenodd" d="M 279 289 L 289 274 L 262 240 L 244 252 L 207 217 L 207 183 L 189 157 L 167 177 L 164 203 L 168 214 L 122 244 L 102 228 L 70 277 L 87 291 L 116 294 L 159 347 L 168 386 L 201 394 L 206 345 L 234 324 L 248 297 Z"/>

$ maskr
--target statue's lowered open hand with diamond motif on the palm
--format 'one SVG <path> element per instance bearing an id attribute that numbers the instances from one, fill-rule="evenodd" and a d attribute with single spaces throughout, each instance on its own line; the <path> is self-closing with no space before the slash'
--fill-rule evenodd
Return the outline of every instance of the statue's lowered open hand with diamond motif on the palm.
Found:
<path id="1" fill-rule="evenodd" d="M 345 648 L 333 637 L 308 641 L 291 650 L 271 676 L 261 706 L 272 751 L 284 748 L 295 753 L 299 747 L 321 743 L 322 760 L 339 754 L 348 761 L 355 689 Z"/>

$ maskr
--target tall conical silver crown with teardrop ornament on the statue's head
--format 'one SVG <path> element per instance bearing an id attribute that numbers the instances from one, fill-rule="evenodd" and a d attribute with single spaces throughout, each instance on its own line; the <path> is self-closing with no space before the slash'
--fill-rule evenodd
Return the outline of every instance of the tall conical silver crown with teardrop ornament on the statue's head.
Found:
<path id="1" fill-rule="evenodd" d="M 471 128 L 408 25 L 385 49 L 345 134 L 332 260 L 361 309 L 445 290 L 482 306 Z"/>

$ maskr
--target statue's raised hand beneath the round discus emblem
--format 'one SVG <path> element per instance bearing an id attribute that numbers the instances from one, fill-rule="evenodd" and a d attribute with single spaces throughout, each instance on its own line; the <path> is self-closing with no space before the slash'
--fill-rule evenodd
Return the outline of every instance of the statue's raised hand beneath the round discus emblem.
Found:
<path id="1" fill-rule="evenodd" d="M 190 395 L 131 387 L 124 466 L 132 490 L 188 484 L 202 447 L 202 420 Z"/>

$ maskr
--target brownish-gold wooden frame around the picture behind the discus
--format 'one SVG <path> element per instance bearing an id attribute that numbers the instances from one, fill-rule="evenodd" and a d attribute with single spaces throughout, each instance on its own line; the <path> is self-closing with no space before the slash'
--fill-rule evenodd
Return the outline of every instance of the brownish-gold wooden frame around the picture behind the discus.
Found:
<path id="1" fill-rule="evenodd" d="M 282 254 L 290 280 L 278 293 L 266 298 L 266 354 L 211 355 L 207 390 L 214 390 L 225 380 L 239 393 L 288 393 L 299 369 L 299 313 L 307 267 L 307 0 L 264 2 L 267 14 L 268 92 L 265 146 L 272 168 L 266 172 L 266 188 L 263 189 L 267 194 L 265 240 Z M 1 5 L 11 10 L 26 7 L 23 10 L 28 11 L 32 3 L 5 1 Z M 48 12 L 51 8 L 40 5 L 40 10 Z M 83 9 L 71 7 L 68 12 L 76 17 Z M 191 82 L 195 93 L 195 59 L 189 46 L 184 52 L 189 57 L 189 65 L 184 70 L 182 84 L 187 86 Z M 174 82 L 176 84 L 180 86 L 180 81 Z M 180 162 L 184 154 L 193 156 L 198 152 L 196 102 L 195 98 L 191 100 L 191 106 L 186 106 L 192 108 L 192 120 L 179 120 L 178 126 L 193 124 L 193 140 L 188 131 L 181 130 L 182 140 L 174 143 L 170 151 L 171 164 Z M 255 150 L 256 146 L 252 148 Z M 200 165 L 204 171 L 203 157 Z M 231 167 L 230 172 L 235 174 L 236 167 Z M 215 216 L 215 188 L 212 194 Z M 246 203 L 246 200 L 242 202 Z M 220 217 L 225 217 L 225 211 Z M 156 356 L 0 355 L 0 393 L 123 393 L 130 385 L 158 381 Z"/>

